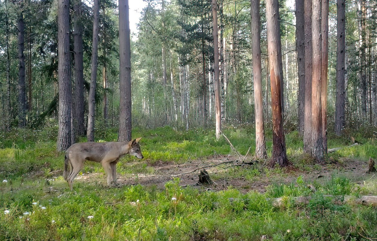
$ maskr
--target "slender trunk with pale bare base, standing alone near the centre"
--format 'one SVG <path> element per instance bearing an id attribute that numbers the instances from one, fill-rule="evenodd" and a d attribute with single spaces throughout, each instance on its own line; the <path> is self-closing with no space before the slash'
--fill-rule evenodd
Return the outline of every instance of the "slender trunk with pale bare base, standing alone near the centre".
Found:
<path id="1" fill-rule="evenodd" d="M 221 135 L 221 98 L 220 98 L 220 80 L 219 80 L 219 33 L 217 26 L 217 2 L 212 0 L 212 16 L 213 16 L 213 51 L 215 56 L 214 63 L 214 89 L 215 89 L 215 114 L 216 114 L 216 140 Z"/>

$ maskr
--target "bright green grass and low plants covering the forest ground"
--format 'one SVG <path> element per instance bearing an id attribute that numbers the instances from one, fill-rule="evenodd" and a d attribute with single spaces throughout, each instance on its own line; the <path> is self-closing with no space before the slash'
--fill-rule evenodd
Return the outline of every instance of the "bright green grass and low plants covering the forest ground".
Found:
<path id="1" fill-rule="evenodd" d="M 214 192 L 205 187 L 182 187 L 175 179 L 163 189 L 157 186 L 108 188 L 103 180 L 77 181 L 69 191 L 61 177 L 63 154 L 55 151 L 56 128 L 13 130 L 0 139 L 0 240 L 368 240 L 375 238 L 377 209 L 342 202 L 344 195 L 377 193 L 375 180 L 359 187 L 335 173 L 322 183 L 307 183 L 303 176 L 290 183 L 278 183 L 285 169 L 263 166 L 222 170 L 212 178 L 244 178 L 262 175 L 272 180 L 266 193 L 224 187 Z M 228 126 L 224 134 L 245 154 L 251 146 L 252 127 Z M 271 131 L 267 130 L 270 140 Z M 101 129 L 97 141 L 115 141 L 116 131 Z M 329 135 L 331 137 L 331 135 Z M 356 136 L 356 135 L 355 135 Z M 213 130 L 189 131 L 161 127 L 134 129 L 133 138 L 143 137 L 141 149 L 146 160 L 125 157 L 118 164 L 121 174 L 152 174 L 148 163 L 204 159 L 232 154 L 224 138 L 215 140 Z M 294 167 L 308 172 L 319 169 L 302 155 L 302 141 L 296 131 L 286 135 L 288 157 Z M 373 139 L 362 146 L 344 147 L 329 160 L 375 157 Z M 83 138 L 82 141 L 85 141 Z M 329 146 L 348 146 L 347 138 L 329 139 Z M 271 141 L 267 141 L 271 150 Z M 330 147 L 329 147 L 330 148 Z M 271 154 L 270 154 L 271 155 Z M 97 163 L 87 162 L 81 173 L 100 172 Z M 80 173 L 80 174 L 81 174 Z M 313 193 L 308 184 L 316 187 Z M 307 206 L 297 207 L 290 198 L 312 196 Z M 337 199 L 329 197 L 335 195 Z M 340 198 L 339 198 L 340 196 Z M 287 205 L 274 207 L 273 198 L 285 197 Z M 45 207 L 45 209 L 43 208 Z M 9 212 L 8 212 L 9 211 Z M 29 214 L 25 214 L 29 212 Z M 92 218 L 90 216 L 93 216 Z"/>

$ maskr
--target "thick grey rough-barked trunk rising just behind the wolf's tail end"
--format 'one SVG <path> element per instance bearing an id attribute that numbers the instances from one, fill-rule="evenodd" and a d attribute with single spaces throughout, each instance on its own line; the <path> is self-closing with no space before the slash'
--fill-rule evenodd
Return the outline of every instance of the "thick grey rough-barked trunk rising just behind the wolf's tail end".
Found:
<path id="1" fill-rule="evenodd" d="M 58 0 L 59 131 L 57 150 L 71 145 L 72 83 L 69 52 L 69 0 Z"/>

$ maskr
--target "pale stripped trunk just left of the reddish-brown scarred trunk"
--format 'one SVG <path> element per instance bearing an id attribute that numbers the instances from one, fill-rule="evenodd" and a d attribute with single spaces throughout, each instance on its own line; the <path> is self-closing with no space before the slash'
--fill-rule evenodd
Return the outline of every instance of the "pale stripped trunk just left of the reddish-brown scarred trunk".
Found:
<path id="1" fill-rule="evenodd" d="M 253 83 L 255 104 L 255 157 L 267 158 L 263 119 L 261 19 L 259 0 L 251 0 L 251 48 L 253 54 Z"/>

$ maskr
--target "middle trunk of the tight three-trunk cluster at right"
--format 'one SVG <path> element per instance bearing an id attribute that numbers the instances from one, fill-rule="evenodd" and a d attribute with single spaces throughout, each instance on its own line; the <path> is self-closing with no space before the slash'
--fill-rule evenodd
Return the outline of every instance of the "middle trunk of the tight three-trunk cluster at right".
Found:
<path id="1" fill-rule="evenodd" d="M 322 35 L 321 35 L 321 6 L 322 0 L 313 0 L 312 36 L 313 38 L 313 75 L 311 96 L 311 138 L 312 156 L 319 163 L 323 163 L 322 145 Z"/>

